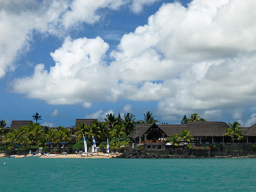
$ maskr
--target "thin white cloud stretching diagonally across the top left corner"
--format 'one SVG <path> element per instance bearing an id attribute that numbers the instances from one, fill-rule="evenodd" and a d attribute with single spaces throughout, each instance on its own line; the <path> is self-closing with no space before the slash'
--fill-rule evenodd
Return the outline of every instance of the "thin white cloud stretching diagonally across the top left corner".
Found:
<path id="1" fill-rule="evenodd" d="M 0 1 L 0 78 L 15 70 L 15 61 L 29 50 L 34 33 L 62 37 L 81 23 L 100 21 L 107 13 L 100 12 L 103 8 L 117 10 L 128 4 L 138 13 L 155 1 Z"/>

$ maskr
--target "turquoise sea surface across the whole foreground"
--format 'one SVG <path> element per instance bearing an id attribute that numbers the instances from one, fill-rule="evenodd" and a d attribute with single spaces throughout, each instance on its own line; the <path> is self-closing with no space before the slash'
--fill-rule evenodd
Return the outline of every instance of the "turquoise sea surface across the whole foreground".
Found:
<path id="1" fill-rule="evenodd" d="M 256 159 L 0 158 L 0 191 L 256 191 Z"/>

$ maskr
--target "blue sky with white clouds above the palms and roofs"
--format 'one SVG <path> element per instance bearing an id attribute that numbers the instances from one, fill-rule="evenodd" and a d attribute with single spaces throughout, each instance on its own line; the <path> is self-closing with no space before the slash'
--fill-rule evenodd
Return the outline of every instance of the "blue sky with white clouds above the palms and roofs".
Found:
<path id="1" fill-rule="evenodd" d="M 147 111 L 256 123 L 256 1 L 0 0 L 0 120 Z"/>

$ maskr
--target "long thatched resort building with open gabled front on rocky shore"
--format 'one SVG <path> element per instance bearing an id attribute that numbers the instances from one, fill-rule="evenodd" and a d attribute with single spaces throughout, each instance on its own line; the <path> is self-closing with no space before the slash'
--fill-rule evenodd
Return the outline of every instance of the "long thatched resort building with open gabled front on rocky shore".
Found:
<path id="1" fill-rule="evenodd" d="M 153 148 L 162 148 L 160 141 L 174 134 L 181 134 L 181 131 L 189 130 L 193 136 L 195 144 L 214 144 L 214 143 L 232 143 L 230 136 L 224 136 L 225 129 L 229 125 L 225 122 L 188 122 L 187 124 L 174 125 L 156 125 L 154 124 L 139 124 L 129 135 L 134 143 L 156 143 Z M 241 128 L 244 132 L 244 143 L 256 142 L 256 124 L 251 127 Z M 152 144 L 147 144 L 151 148 Z M 164 145 L 163 145 L 164 147 Z"/>

